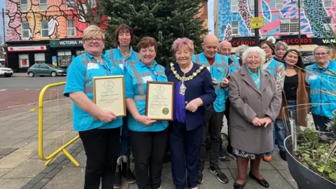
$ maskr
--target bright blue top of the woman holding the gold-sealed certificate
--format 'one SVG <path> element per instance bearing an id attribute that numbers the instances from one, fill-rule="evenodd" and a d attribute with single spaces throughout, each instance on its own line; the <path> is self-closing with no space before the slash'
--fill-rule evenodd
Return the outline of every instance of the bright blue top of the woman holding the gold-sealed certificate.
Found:
<path id="1" fill-rule="evenodd" d="M 149 67 L 139 61 L 137 64 L 127 64 L 125 69 L 125 96 L 134 99 L 141 116 L 145 115 L 147 81 L 167 81 L 165 68 L 154 62 Z M 160 132 L 168 127 L 167 121 L 156 121 L 152 125 L 142 125 L 132 114 L 127 116 L 128 128 L 135 132 Z"/>

